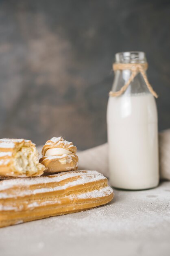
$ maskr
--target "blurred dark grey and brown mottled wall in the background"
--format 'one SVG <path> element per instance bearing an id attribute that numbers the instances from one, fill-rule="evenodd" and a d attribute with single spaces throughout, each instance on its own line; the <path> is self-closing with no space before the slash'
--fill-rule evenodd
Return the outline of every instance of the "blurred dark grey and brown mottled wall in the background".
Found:
<path id="1" fill-rule="evenodd" d="M 0 137 L 107 141 L 116 52 L 144 51 L 170 128 L 170 1 L 0 1 Z"/>

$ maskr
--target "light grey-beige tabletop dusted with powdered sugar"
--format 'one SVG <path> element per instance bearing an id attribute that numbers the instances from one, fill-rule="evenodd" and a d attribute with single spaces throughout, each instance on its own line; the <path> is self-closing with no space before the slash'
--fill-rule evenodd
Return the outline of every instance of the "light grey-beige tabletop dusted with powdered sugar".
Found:
<path id="1" fill-rule="evenodd" d="M 170 182 L 106 206 L 0 229 L 0 256 L 168 256 Z"/>

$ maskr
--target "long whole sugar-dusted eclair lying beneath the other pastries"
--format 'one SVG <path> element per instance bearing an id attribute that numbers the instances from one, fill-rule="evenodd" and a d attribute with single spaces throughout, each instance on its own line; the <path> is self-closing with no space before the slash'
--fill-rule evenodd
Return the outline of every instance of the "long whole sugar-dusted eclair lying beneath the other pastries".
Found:
<path id="1" fill-rule="evenodd" d="M 0 181 L 0 227 L 107 204 L 113 190 L 97 171 Z"/>

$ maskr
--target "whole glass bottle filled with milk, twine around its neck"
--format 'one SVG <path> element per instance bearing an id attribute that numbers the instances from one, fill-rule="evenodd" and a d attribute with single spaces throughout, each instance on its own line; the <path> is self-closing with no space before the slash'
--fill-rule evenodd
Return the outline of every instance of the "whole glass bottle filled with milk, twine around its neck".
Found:
<path id="1" fill-rule="evenodd" d="M 150 189 L 159 183 L 156 92 L 144 52 L 121 52 L 107 106 L 109 172 L 113 187 Z"/>

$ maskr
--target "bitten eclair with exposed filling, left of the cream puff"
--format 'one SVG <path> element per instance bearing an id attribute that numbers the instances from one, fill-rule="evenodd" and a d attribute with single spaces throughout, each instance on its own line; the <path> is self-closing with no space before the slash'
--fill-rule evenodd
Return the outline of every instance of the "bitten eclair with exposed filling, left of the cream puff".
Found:
<path id="1" fill-rule="evenodd" d="M 1 177 L 40 176 L 45 169 L 31 140 L 0 139 Z"/>

